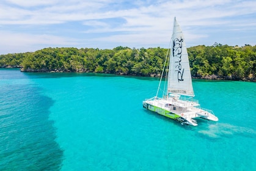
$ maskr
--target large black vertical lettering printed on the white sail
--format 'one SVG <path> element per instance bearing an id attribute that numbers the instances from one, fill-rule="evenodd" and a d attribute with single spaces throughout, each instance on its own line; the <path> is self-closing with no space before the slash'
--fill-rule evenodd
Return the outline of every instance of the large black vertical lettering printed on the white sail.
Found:
<path id="1" fill-rule="evenodd" d="M 184 68 L 181 66 L 181 53 L 182 53 L 182 42 L 183 38 L 180 37 L 180 40 L 178 38 L 174 39 L 174 44 L 172 47 L 172 55 L 175 57 L 175 68 L 178 73 L 178 82 L 183 81 L 183 73 Z"/>

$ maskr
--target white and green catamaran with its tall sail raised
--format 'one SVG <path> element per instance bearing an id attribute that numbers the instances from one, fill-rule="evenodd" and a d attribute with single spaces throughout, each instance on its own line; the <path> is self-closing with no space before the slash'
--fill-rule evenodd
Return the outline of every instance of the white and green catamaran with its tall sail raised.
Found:
<path id="1" fill-rule="evenodd" d="M 199 101 L 194 100 L 194 90 L 192 87 L 191 72 L 189 67 L 188 52 L 186 49 L 185 38 L 180 25 L 174 18 L 174 29 L 167 53 L 166 62 L 169 65 L 164 67 L 156 96 L 142 102 L 143 107 L 149 111 L 156 112 L 166 117 L 172 118 L 187 125 L 197 126 L 194 118 L 218 121 L 213 111 L 200 107 Z M 163 96 L 158 97 L 163 81 L 164 71 L 167 70 L 163 89 Z M 163 86 L 162 86 L 163 87 Z M 162 90 L 162 89 L 161 89 Z"/>

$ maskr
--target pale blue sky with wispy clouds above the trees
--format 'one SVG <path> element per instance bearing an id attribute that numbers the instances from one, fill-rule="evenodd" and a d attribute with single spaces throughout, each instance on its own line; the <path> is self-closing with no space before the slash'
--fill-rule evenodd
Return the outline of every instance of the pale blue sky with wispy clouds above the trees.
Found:
<path id="1" fill-rule="evenodd" d="M 168 48 L 174 16 L 187 47 L 256 45 L 255 0 L 1 0 L 0 54 L 48 47 Z"/>

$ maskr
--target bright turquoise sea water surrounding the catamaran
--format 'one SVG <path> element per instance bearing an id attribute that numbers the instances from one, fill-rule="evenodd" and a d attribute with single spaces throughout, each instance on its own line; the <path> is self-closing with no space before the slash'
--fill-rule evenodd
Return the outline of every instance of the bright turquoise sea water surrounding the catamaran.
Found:
<path id="1" fill-rule="evenodd" d="M 256 84 L 193 85 L 219 122 L 146 111 L 155 78 L 0 69 L 0 170 L 255 170 Z"/>

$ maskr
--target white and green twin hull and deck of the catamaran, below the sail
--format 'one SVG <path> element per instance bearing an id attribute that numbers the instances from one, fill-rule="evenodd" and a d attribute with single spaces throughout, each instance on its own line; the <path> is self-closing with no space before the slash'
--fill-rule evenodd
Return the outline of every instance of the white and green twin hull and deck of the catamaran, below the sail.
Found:
<path id="1" fill-rule="evenodd" d="M 192 98 L 181 99 L 179 96 L 169 98 L 153 97 L 143 101 L 143 106 L 150 111 L 165 115 L 187 125 L 197 126 L 197 122 L 193 118 L 218 121 L 218 117 L 212 111 L 201 109 L 198 101 L 192 100 Z"/>

